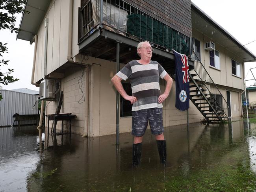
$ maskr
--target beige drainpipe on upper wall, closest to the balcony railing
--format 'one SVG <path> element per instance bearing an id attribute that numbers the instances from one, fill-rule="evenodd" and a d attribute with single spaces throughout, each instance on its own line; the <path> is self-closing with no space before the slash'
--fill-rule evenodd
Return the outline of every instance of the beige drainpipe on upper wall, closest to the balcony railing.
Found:
<path id="1" fill-rule="evenodd" d="M 73 27 L 73 0 L 69 0 L 69 29 L 68 29 L 68 55 L 67 60 L 74 63 L 72 58 L 72 27 Z"/>

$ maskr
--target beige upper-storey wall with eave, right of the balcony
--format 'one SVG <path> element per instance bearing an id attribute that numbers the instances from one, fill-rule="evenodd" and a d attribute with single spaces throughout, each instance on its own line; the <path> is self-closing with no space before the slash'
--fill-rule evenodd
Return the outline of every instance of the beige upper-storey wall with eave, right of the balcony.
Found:
<path id="1" fill-rule="evenodd" d="M 195 28 L 192 28 L 193 37 L 200 41 L 200 60 L 208 73 L 210 74 L 211 78 L 217 85 L 223 85 L 226 87 L 232 87 L 236 89 L 244 89 L 243 79 L 244 79 L 244 64 L 243 60 L 237 57 L 235 54 L 226 50 L 223 46 L 221 46 L 218 42 L 206 37 L 204 34 L 200 33 Z M 213 68 L 210 66 L 210 57 L 209 52 L 204 50 L 205 42 L 212 41 L 215 43 L 215 49 L 220 53 L 220 70 Z M 241 70 L 241 77 L 232 75 L 232 64 L 231 59 L 236 60 L 239 62 L 240 70 Z"/>

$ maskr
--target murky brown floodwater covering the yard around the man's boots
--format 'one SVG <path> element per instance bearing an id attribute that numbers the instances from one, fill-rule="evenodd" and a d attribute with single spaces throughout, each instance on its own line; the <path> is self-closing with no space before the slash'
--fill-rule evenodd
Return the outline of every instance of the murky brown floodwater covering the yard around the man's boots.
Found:
<path id="1" fill-rule="evenodd" d="M 232 166 L 248 157 L 256 171 L 256 124 L 199 123 L 165 128 L 167 165 L 159 162 L 154 136 L 143 138 L 142 163 L 132 167 L 132 136 L 49 136 L 40 145 L 37 129 L 0 128 L 0 192 L 168 191 L 168 181 L 199 170 Z M 255 146 L 255 147 L 254 147 Z M 237 155 L 240 154 L 240 155 Z M 246 158 L 245 158 L 246 159 Z"/>

